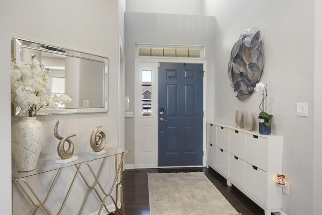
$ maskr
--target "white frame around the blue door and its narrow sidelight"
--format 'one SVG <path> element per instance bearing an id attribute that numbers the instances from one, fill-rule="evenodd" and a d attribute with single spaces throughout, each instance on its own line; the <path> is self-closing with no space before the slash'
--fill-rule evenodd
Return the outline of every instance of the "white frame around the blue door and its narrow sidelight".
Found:
<path id="1" fill-rule="evenodd" d="M 158 108 L 158 81 L 157 81 L 157 73 L 158 73 L 158 62 L 170 62 L 170 63 L 200 63 L 203 64 L 203 70 L 206 71 L 204 73 L 204 79 L 203 79 L 203 112 L 204 112 L 204 116 L 202 119 L 202 149 L 204 152 L 204 156 L 202 158 L 202 166 L 205 167 L 206 166 L 206 126 L 207 126 L 207 61 L 204 59 L 191 59 L 191 58 L 145 58 L 145 57 L 137 57 L 135 58 L 135 96 L 134 96 L 134 100 L 135 100 L 135 106 L 134 106 L 134 168 L 135 169 L 143 169 L 143 168 L 167 168 L 167 167 L 158 167 L 158 113 L 157 113 L 157 108 Z M 151 113 L 151 118 L 154 120 L 152 123 L 153 126 L 153 136 L 152 136 L 152 145 L 151 145 L 151 153 L 153 157 L 153 161 L 149 161 L 147 162 L 148 164 L 142 164 L 141 160 L 140 160 L 140 130 L 139 128 L 141 127 L 141 100 L 140 97 L 141 96 L 138 92 L 139 92 L 139 88 L 141 86 L 141 80 L 140 80 L 140 75 L 139 75 L 139 65 L 141 63 L 148 63 L 150 65 L 155 66 L 154 68 L 152 68 L 152 70 L 156 71 L 156 74 L 152 75 L 152 113 Z M 153 72 L 152 72 L 153 73 Z M 139 94 L 139 95 L 138 95 Z M 171 166 L 171 167 L 176 167 L 176 166 Z M 180 166 L 182 167 L 182 166 Z M 189 166 L 189 167 L 200 167 L 200 166 Z"/>

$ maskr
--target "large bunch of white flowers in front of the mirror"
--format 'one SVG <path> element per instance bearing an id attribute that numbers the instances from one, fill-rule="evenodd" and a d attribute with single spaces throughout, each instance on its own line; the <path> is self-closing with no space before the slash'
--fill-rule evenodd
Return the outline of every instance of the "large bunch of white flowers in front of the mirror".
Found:
<path id="1" fill-rule="evenodd" d="M 58 104 L 71 101 L 72 97 L 65 94 L 48 96 L 46 89 L 50 88 L 48 74 L 50 70 L 44 68 L 33 54 L 30 61 L 16 61 L 11 63 L 11 102 L 20 107 L 29 116 L 36 116 L 43 108 L 55 108 Z"/>

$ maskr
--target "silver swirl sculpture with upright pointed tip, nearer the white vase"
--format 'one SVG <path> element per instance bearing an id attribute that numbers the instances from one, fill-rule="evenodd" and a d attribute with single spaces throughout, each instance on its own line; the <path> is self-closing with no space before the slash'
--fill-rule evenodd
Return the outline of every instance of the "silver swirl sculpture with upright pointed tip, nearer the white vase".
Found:
<path id="1" fill-rule="evenodd" d="M 68 158 L 71 158 L 72 154 L 74 153 L 74 144 L 72 143 L 72 141 L 69 138 L 72 136 L 76 136 L 76 134 L 70 134 L 65 137 L 60 136 L 58 134 L 58 123 L 59 123 L 59 120 L 57 121 L 55 128 L 54 128 L 55 137 L 57 139 L 60 139 L 58 147 L 57 147 L 57 153 L 61 159 L 68 159 Z M 67 150 L 64 149 L 65 141 L 67 141 L 69 144 Z"/>

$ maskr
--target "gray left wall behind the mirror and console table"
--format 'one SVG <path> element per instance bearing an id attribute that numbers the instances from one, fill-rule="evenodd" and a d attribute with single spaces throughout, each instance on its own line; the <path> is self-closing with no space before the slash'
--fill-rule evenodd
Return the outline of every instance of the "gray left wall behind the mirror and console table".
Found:
<path id="1" fill-rule="evenodd" d="M 121 1 L 121 0 L 120 0 Z M 8 3 L 9 4 L 9 3 Z M 5 4 L 6 6 L 6 4 Z M 25 39 L 30 39 L 33 41 L 43 42 L 45 44 L 51 44 L 54 46 L 65 47 L 70 49 L 76 49 L 83 52 L 89 52 L 101 56 L 107 56 L 109 58 L 109 112 L 108 113 L 93 113 L 93 114 L 70 114 L 70 115 L 50 115 L 50 116 L 37 116 L 37 119 L 42 121 L 45 128 L 44 145 L 41 151 L 40 160 L 56 159 L 57 155 L 57 144 L 58 141 L 53 135 L 53 128 L 57 120 L 59 120 L 59 133 L 60 135 L 68 135 L 75 133 L 76 136 L 72 137 L 74 143 L 74 155 L 83 152 L 91 151 L 90 147 L 90 135 L 93 129 L 102 125 L 100 130 L 103 130 L 107 135 L 107 147 L 118 147 L 120 144 L 120 133 L 119 129 L 119 119 L 120 119 L 120 108 L 119 108 L 119 9 L 118 1 L 53 1 L 53 2 L 39 2 L 36 0 L 29 1 L 26 5 L 22 0 L 10 1 L 8 7 L 5 7 L 10 13 L 5 12 L 8 16 L 4 17 L 2 20 L 6 20 L 6 25 L 3 29 L 10 29 L 10 23 L 12 23 L 12 29 L 9 32 L 3 33 L 0 36 L 3 38 L 3 43 L 5 45 L 5 54 L 2 55 L 1 60 L 6 59 L 8 65 L 10 66 L 10 39 L 8 36 L 16 36 Z M 46 10 L 44 10 L 46 9 Z M 3 16 L 3 7 L 1 7 L 1 17 Z M 59 11 L 59 16 L 57 15 Z M 86 14 L 86 16 L 84 16 Z M 9 48 L 7 47 L 7 44 Z M 6 63 L 4 63 L 6 65 Z M 1 84 L 2 93 L 5 96 L 4 101 L 9 99 L 10 96 L 10 68 L 6 69 L 8 71 L 8 76 L 4 75 Z M 5 120 L 4 124 L 10 124 L 6 122 L 6 119 L 10 117 L 10 101 L 8 101 L 8 107 L 2 107 L 2 113 L 6 116 L 3 117 Z M 122 117 L 123 118 L 123 117 Z M 17 117 L 13 117 L 12 120 L 17 120 Z M 7 155 L 10 156 L 10 131 L 7 128 L 1 132 L 6 132 L 3 135 L 3 140 L 7 142 L 4 145 L 2 151 L 4 156 L 1 159 L 3 164 L 5 164 L 5 170 L 8 168 L 9 173 L 6 176 L 11 177 L 11 165 L 7 160 Z M 9 136 L 8 136 L 9 133 Z M 9 145 L 8 145 L 9 143 Z M 10 156 L 11 157 L 11 156 Z M 113 159 L 111 162 L 104 167 L 104 174 L 102 177 L 106 177 L 107 181 L 103 186 L 109 185 L 111 182 L 110 178 L 114 171 Z M 6 171 L 4 171 L 6 173 Z M 64 176 L 57 181 L 57 187 L 64 187 L 65 184 L 70 180 L 73 171 L 65 171 Z M 87 174 L 87 173 L 85 173 Z M 50 173 L 45 174 L 41 178 L 42 183 L 39 187 L 48 188 L 48 183 L 52 179 Z M 29 178 L 33 181 L 32 183 L 37 183 L 40 181 L 39 176 Z M 40 183 L 40 182 L 39 182 Z M 4 201 L 6 205 L 10 205 L 11 202 L 11 182 L 4 183 L 2 186 L 2 197 L 8 199 L 9 202 Z M 47 185 L 47 186 L 46 186 Z M 10 191 L 7 191 L 7 188 Z M 46 189 L 40 189 L 40 195 L 44 195 Z M 58 191 L 59 192 L 59 191 Z M 70 202 L 73 205 L 73 201 L 85 195 L 85 189 L 80 183 L 77 184 L 72 193 L 70 194 Z M 9 195 L 8 195 L 9 193 Z M 60 192 L 60 195 L 63 192 Z M 55 193 L 59 194 L 59 193 Z M 14 187 L 14 202 L 15 202 L 15 212 L 17 214 L 28 213 L 30 207 L 26 200 L 21 198 L 20 192 L 17 187 Z M 54 197 L 55 195 L 53 195 Z M 3 198 L 1 198 L 3 199 Z M 91 198 L 87 202 L 86 214 L 90 214 L 97 210 L 97 199 Z M 3 205 L 3 203 L 1 205 Z M 57 203 L 57 201 L 55 201 Z M 108 204 L 111 203 L 110 201 Z M 75 203 L 76 204 L 76 203 Z M 89 206 L 90 205 L 90 206 Z M 49 207 L 57 208 L 57 204 L 50 204 Z M 11 207 L 10 207 L 11 208 Z M 66 207 L 66 214 L 70 214 L 74 208 Z M 6 210 L 1 210 L 6 211 Z M 22 212 L 23 211 L 23 212 Z M 69 211 L 69 212 L 68 212 Z M 10 212 L 6 214 L 11 214 Z"/>

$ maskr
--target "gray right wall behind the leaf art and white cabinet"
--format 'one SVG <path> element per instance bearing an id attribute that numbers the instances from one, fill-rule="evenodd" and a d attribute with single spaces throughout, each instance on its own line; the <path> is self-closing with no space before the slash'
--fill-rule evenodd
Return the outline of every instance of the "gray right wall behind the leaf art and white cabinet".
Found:
<path id="1" fill-rule="evenodd" d="M 272 133 L 284 137 L 283 174 L 289 182 L 289 195 L 283 193 L 282 211 L 288 215 L 318 214 L 312 211 L 316 188 L 312 186 L 313 119 L 317 117 L 313 113 L 314 1 L 204 2 L 205 14 L 216 17 L 215 120 L 233 125 L 236 109 L 251 111 L 257 118 L 261 95 L 257 92 L 246 101 L 237 100 L 226 70 L 240 33 L 249 28 L 260 30 L 265 53 L 261 82 L 268 86 L 267 111 L 274 115 Z M 296 116 L 297 102 L 308 103 L 308 117 Z"/>

